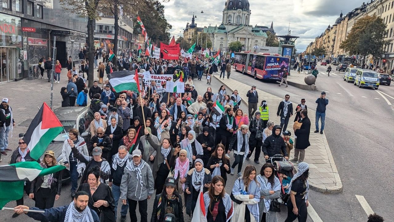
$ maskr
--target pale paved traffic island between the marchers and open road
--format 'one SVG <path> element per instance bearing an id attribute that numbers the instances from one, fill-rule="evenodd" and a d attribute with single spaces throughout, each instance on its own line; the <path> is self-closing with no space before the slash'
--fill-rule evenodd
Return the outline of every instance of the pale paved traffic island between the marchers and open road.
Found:
<path id="1" fill-rule="evenodd" d="M 297 73 L 298 74 L 298 73 Z M 247 97 L 246 92 L 250 90 L 250 86 L 235 81 L 233 79 L 220 79 L 217 75 L 212 75 L 216 78 L 217 81 L 221 82 L 227 88 L 234 90 L 237 89 L 238 93 L 242 98 L 242 102 L 247 105 Z M 236 88 L 235 88 L 236 87 Z M 268 105 L 271 107 L 269 109 L 269 119 L 273 121 L 275 124 L 280 123 L 280 117 L 277 117 L 276 110 L 279 102 L 283 100 L 283 98 L 279 98 L 267 92 L 257 89 L 259 99 L 266 100 Z M 293 103 L 293 107 L 297 104 Z M 314 126 L 315 122 L 315 111 L 312 109 L 308 109 L 308 117 L 312 126 Z M 292 118 L 291 123 L 289 123 L 288 131 L 290 131 L 294 137 L 294 131 L 292 128 Z M 327 143 L 327 139 L 325 134 L 316 134 L 314 133 L 314 127 L 310 129 L 309 136 L 310 147 L 308 147 L 305 151 L 305 162 L 309 164 L 309 184 L 313 190 L 319 192 L 329 192 L 329 193 L 338 193 L 342 192 L 342 182 L 338 174 L 338 170 L 336 169 L 336 165 L 331 154 L 330 147 Z M 290 156 L 294 156 L 294 149 L 292 150 Z"/>

